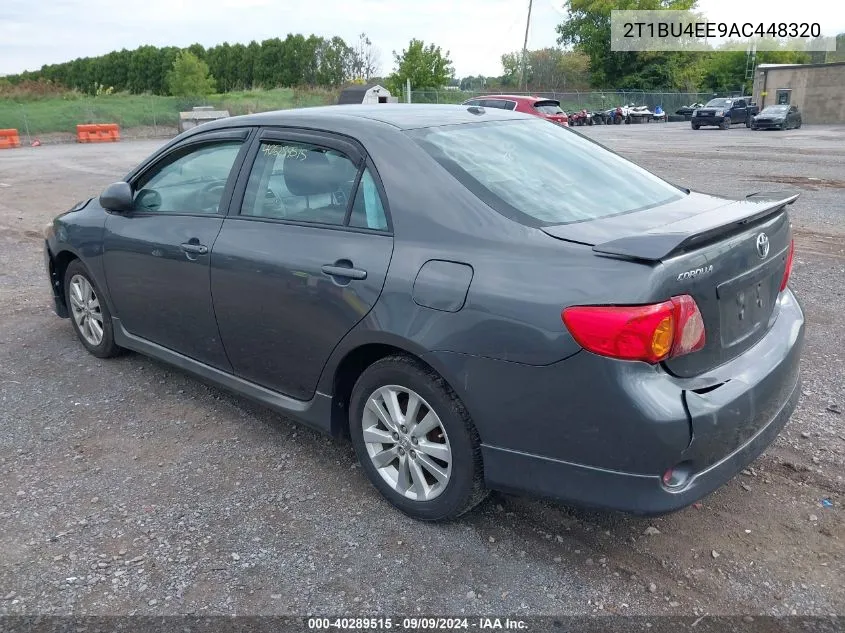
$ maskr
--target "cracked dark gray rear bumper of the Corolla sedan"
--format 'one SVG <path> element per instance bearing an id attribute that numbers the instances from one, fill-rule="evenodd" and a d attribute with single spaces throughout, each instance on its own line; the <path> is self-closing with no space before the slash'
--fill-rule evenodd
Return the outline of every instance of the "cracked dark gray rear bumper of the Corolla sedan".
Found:
<path id="1" fill-rule="evenodd" d="M 794 411 L 804 317 L 790 291 L 777 309 L 754 347 L 692 379 L 583 351 L 545 367 L 433 356 L 478 428 L 490 488 L 661 514 L 734 477 Z M 670 468 L 684 474 L 671 488 Z"/>

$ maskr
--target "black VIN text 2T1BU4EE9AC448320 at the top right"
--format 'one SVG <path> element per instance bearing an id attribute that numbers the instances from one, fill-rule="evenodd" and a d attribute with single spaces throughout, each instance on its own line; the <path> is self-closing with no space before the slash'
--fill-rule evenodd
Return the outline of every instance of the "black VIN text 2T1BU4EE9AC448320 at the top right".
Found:
<path id="1" fill-rule="evenodd" d="M 818 22 L 762 22 L 728 24 L 726 22 L 625 22 L 623 37 L 694 37 L 700 39 L 722 37 L 821 37 Z"/>

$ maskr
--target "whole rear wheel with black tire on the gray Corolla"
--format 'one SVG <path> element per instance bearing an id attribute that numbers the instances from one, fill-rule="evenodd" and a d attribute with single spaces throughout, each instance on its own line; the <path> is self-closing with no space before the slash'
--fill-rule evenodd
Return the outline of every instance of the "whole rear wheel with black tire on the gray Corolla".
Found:
<path id="1" fill-rule="evenodd" d="M 398 394 L 396 404 L 401 415 L 391 415 L 382 406 L 392 400 L 390 394 Z M 414 396 L 418 402 L 417 428 L 423 433 L 420 436 L 413 433 L 410 424 L 401 424 Z M 376 413 L 376 407 L 381 409 L 381 415 Z M 432 413 L 434 418 L 430 417 Z M 414 359 L 388 356 L 364 370 L 352 390 L 349 431 L 358 461 L 370 482 L 390 503 L 414 519 L 455 519 L 487 496 L 480 440 L 469 414 L 446 381 Z M 380 438 L 385 441 L 378 441 Z M 423 443 L 428 450 L 422 448 Z M 448 456 L 448 460 L 434 458 L 433 454 Z M 383 460 L 389 461 L 376 466 L 373 455 L 382 455 Z M 440 469 L 440 477 L 434 476 L 431 465 Z M 428 495 L 428 499 L 418 498 Z"/>

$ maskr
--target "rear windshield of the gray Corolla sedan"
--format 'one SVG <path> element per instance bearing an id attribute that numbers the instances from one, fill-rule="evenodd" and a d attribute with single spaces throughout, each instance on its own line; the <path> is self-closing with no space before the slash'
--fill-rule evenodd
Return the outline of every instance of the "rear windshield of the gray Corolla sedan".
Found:
<path id="1" fill-rule="evenodd" d="M 531 226 L 618 215 L 684 193 L 601 145 L 542 119 L 409 132 L 467 189 Z"/>

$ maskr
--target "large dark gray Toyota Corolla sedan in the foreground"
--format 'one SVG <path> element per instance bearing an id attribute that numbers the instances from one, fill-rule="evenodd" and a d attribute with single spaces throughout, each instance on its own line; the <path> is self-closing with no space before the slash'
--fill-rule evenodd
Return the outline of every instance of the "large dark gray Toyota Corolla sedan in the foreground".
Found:
<path id="1" fill-rule="evenodd" d="M 655 514 L 795 408 L 797 197 L 693 193 L 504 109 L 303 108 L 179 135 L 44 254 L 91 354 L 351 436 L 413 517 L 488 489 Z"/>

